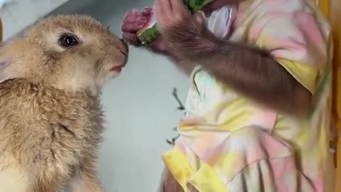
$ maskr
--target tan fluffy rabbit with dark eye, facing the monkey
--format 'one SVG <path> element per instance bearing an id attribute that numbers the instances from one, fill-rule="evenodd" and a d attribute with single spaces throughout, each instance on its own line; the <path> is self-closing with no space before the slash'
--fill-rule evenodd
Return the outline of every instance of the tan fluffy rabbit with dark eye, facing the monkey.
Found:
<path id="1" fill-rule="evenodd" d="M 98 192 L 101 87 L 128 46 L 88 16 L 52 16 L 0 46 L 0 192 Z"/>

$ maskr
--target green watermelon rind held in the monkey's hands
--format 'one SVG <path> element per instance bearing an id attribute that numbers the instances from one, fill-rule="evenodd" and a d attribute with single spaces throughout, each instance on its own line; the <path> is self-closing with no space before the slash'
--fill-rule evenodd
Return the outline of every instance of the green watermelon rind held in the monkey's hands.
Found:
<path id="1" fill-rule="evenodd" d="M 213 0 L 183 0 L 183 3 L 188 7 L 190 12 L 194 13 L 202 9 L 203 6 L 210 3 L 211 1 Z M 147 26 L 146 28 L 143 28 L 137 32 L 137 38 L 139 38 L 139 41 L 141 41 L 142 45 L 151 43 L 151 41 L 160 35 L 161 34 L 158 31 L 157 23 Z"/>

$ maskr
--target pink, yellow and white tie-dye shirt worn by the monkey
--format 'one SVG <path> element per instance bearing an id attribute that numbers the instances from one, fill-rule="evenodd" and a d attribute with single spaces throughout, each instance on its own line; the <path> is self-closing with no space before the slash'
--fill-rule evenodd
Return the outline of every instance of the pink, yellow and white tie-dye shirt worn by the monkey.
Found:
<path id="1" fill-rule="evenodd" d="M 270 50 L 313 94 L 311 113 L 266 109 L 198 67 L 166 167 L 185 191 L 333 191 L 330 26 L 314 1 L 248 0 L 232 27 L 229 41 Z"/>

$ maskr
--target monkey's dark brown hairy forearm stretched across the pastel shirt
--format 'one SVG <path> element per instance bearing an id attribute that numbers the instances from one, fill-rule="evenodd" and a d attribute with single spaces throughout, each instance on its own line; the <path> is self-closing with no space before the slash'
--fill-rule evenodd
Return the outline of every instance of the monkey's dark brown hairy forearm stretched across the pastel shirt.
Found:
<path id="1" fill-rule="evenodd" d="M 305 112 L 310 106 L 310 92 L 265 50 L 220 40 L 188 23 L 168 31 L 166 38 L 178 58 L 202 65 L 220 82 L 258 102 L 285 112 Z"/>

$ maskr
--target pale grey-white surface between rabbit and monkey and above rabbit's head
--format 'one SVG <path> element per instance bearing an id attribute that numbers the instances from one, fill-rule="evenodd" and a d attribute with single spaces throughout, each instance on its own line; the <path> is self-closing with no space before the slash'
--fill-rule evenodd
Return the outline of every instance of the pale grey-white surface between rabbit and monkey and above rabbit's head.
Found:
<path id="1" fill-rule="evenodd" d="M 53 14 L 90 14 L 121 35 L 119 25 L 130 9 L 153 0 L 72 0 Z M 82 6 L 80 6 L 82 5 Z M 162 171 L 161 154 L 169 148 L 166 138 L 176 136 L 173 127 L 182 118 L 171 95 L 173 87 L 185 101 L 188 79 L 165 58 L 131 48 L 129 63 L 119 78 L 105 87 L 107 131 L 99 158 L 99 174 L 105 191 L 156 191 Z"/>

